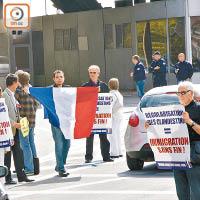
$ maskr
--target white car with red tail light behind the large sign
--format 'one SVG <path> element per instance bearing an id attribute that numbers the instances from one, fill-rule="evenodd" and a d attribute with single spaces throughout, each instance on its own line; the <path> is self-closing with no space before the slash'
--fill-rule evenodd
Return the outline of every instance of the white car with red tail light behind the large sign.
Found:
<path id="1" fill-rule="evenodd" d="M 131 114 L 124 138 L 126 160 L 130 170 L 141 170 L 144 162 L 154 161 L 154 154 L 148 143 L 142 108 L 179 105 L 178 96 L 176 95 L 177 90 L 177 85 L 149 90 Z M 194 85 L 194 90 L 195 97 L 200 100 L 200 85 Z"/>

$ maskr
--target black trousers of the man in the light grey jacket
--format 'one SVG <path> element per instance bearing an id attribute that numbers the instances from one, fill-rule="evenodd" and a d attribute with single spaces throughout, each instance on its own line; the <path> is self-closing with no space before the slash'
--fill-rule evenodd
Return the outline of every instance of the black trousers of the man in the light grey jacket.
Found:
<path id="1" fill-rule="evenodd" d="M 17 178 L 18 180 L 22 180 L 25 178 L 26 175 L 24 174 L 24 156 L 23 151 L 20 147 L 19 131 L 16 131 L 16 135 L 14 136 L 14 145 L 11 147 L 11 151 L 13 154 Z M 8 167 L 8 175 L 6 176 L 6 181 L 11 179 L 11 151 L 7 152 L 4 158 L 4 164 Z"/>

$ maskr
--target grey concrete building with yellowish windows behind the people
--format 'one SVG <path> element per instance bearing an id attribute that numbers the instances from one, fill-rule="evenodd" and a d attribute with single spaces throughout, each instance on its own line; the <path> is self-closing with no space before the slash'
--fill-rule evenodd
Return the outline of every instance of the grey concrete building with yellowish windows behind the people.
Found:
<path id="1" fill-rule="evenodd" d="M 103 81 L 118 77 L 120 89 L 130 90 L 135 89 L 129 76 L 133 54 L 148 68 L 152 53 L 160 51 L 168 64 L 168 84 L 175 84 L 172 66 L 177 54 L 185 52 L 194 64 L 193 81 L 200 82 L 199 24 L 199 0 L 155 1 L 35 17 L 22 35 L 12 35 L 1 26 L 0 56 L 9 58 L 11 72 L 29 71 L 35 86 L 52 84 L 56 69 L 65 72 L 68 84 L 80 86 L 88 80 L 88 66 L 97 64 Z M 146 89 L 151 87 L 148 74 Z"/>

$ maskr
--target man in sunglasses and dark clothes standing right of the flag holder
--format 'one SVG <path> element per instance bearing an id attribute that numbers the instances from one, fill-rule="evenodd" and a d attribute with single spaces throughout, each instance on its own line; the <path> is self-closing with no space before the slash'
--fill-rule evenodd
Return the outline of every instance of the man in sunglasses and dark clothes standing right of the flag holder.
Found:
<path id="1" fill-rule="evenodd" d="M 99 93 L 109 93 L 109 88 L 106 83 L 99 80 L 100 69 L 96 65 L 92 65 L 88 69 L 90 80 L 89 82 L 83 84 L 82 87 L 98 87 Z M 112 162 L 110 158 L 110 143 L 107 139 L 106 134 L 99 134 L 100 145 L 101 145 L 101 154 L 104 162 Z M 85 162 L 90 163 L 93 159 L 93 142 L 94 135 L 92 134 L 89 138 L 86 139 L 86 155 Z"/>

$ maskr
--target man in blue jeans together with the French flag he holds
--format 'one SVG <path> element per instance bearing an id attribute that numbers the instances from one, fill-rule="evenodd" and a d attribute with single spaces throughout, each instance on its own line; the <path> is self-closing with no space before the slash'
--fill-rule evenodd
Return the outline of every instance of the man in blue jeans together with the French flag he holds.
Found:
<path id="1" fill-rule="evenodd" d="M 70 148 L 70 139 L 90 137 L 92 131 L 98 88 L 72 88 L 64 85 L 64 72 L 53 74 L 53 87 L 30 88 L 31 95 L 43 106 L 55 142 L 56 167 L 60 177 L 67 177 L 64 165 Z"/>

